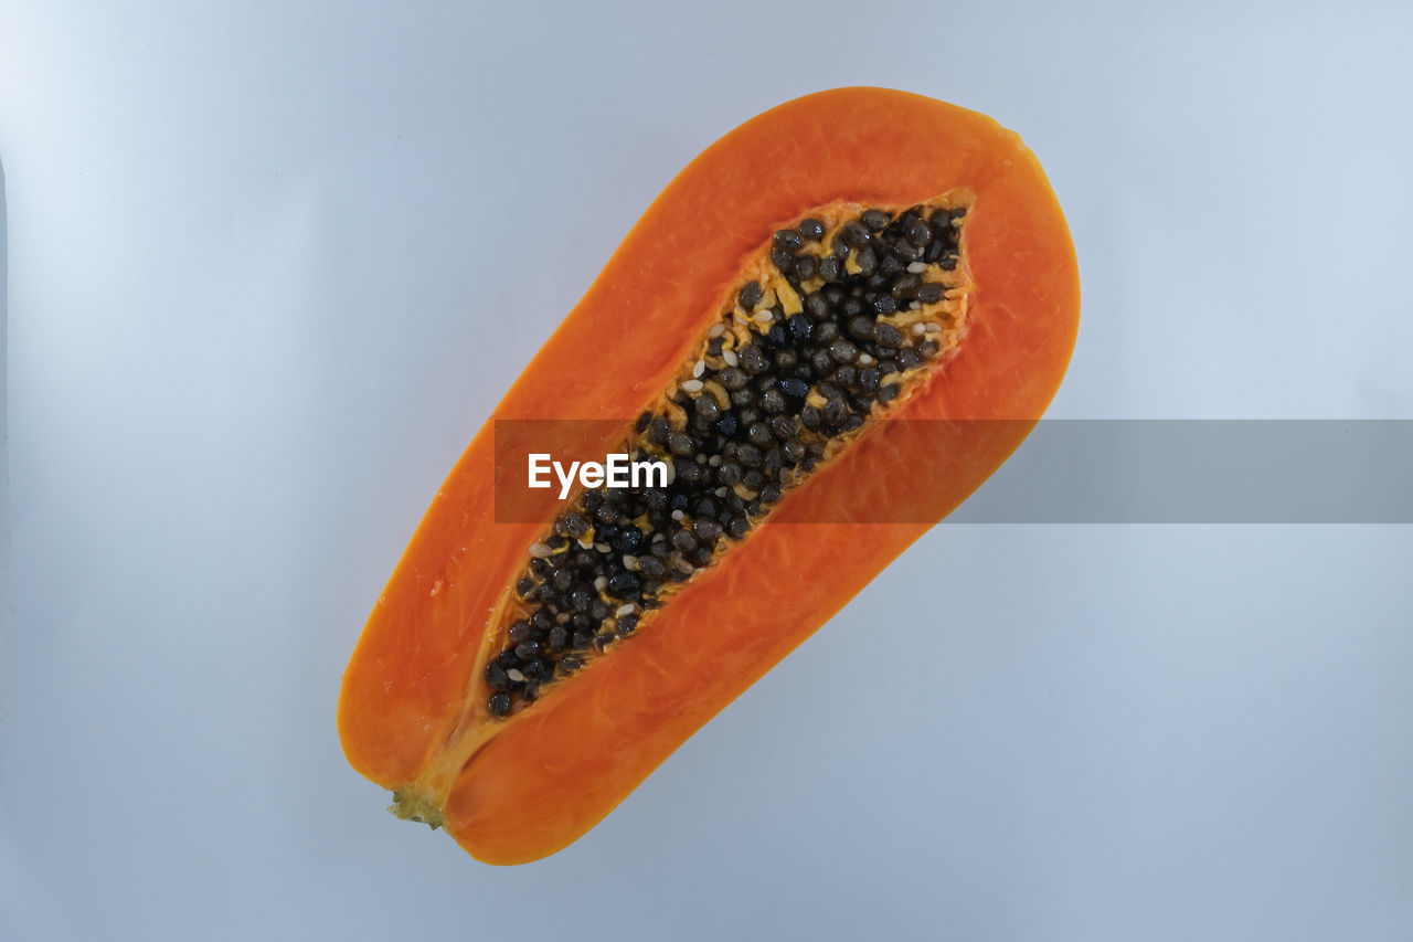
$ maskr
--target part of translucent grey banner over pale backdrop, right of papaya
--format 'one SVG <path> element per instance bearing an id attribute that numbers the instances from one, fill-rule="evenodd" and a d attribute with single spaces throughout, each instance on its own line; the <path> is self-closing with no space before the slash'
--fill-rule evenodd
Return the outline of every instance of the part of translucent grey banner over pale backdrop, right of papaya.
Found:
<path id="1" fill-rule="evenodd" d="M 1413 523 L 1413 420 L 1043 420 L 954 523 Z"/>

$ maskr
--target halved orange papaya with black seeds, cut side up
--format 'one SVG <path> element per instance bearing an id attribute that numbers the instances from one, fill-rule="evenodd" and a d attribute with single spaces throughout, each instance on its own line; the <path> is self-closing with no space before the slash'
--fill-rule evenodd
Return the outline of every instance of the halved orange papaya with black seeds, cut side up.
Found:
<path id="1" fill-rule="evenodd" d="M 343 675 L 349 762 L 479 860 L 562 849 L 1006 460 L 1078 310 L 995 120 L 846 88 L 732 130 L 437 492 Z M 642 477 L 528 485 L 610 453 Z"/>

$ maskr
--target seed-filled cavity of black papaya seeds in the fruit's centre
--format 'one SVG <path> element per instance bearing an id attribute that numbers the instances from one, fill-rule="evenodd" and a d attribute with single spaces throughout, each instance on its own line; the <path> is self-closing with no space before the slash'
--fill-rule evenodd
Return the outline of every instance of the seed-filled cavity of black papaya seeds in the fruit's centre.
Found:
<path id="1" fill-rule="evenodd" d="M 581 492 L 528 547 L 485 704 L 507 717 L 640 629 L 959 341 L 965 192 L 774 231 L 622 451 L 667 485 Z"/>

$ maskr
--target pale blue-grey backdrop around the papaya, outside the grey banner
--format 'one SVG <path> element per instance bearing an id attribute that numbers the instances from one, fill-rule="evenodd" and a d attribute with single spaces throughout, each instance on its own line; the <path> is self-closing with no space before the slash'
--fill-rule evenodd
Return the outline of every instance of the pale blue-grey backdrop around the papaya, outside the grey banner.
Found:
<path id="1" fill-rule="evenodd" d="M 941 526 L 528 867 L 333 730 L 502 390 L 804 92 L 1034 147 L 1053 416 L 1413 417 L 1407 4 L 178 6 L 0 1 L 0 936 L 1413 938 L 1407 526 Z"/>

